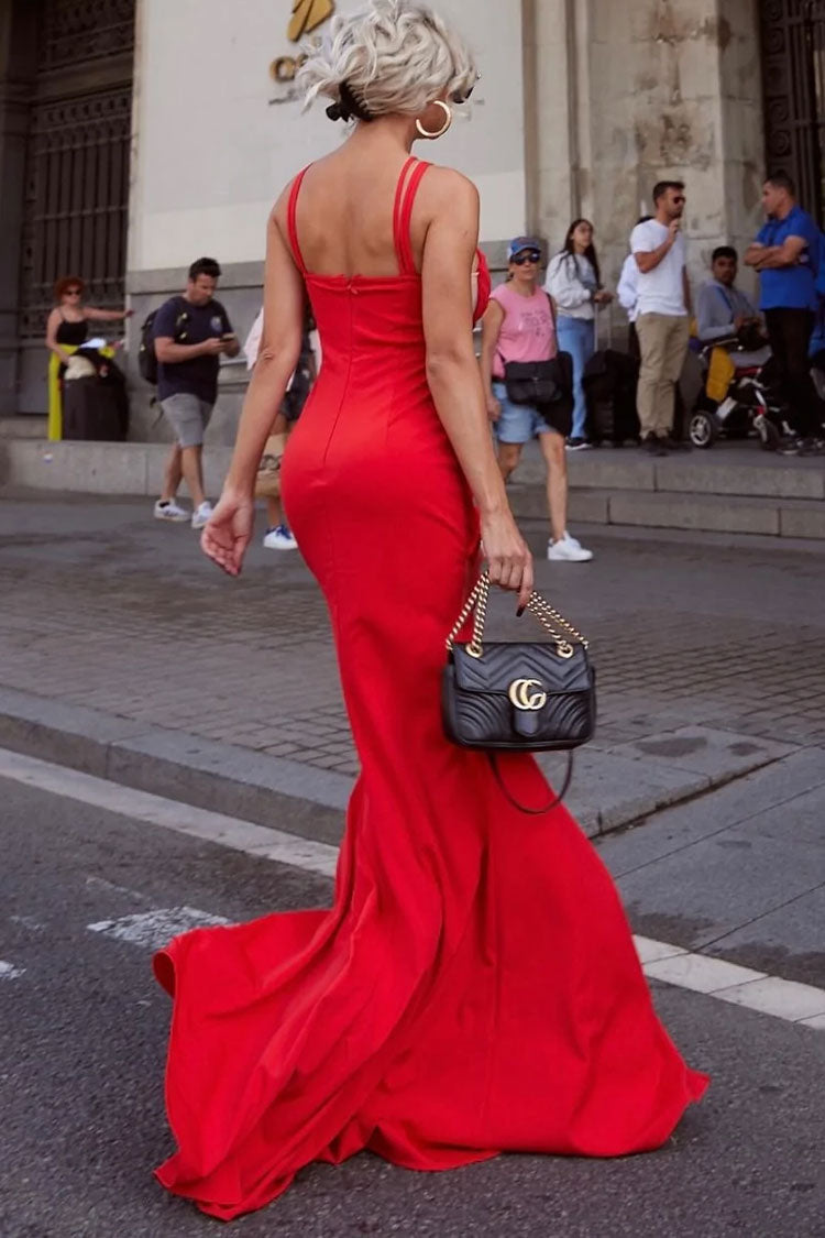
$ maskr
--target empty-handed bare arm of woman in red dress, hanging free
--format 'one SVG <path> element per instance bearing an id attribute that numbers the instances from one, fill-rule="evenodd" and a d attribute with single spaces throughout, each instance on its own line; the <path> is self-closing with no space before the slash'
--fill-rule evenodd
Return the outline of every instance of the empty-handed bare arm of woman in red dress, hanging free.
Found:
<path id="1" fill-rule="evenodd" d="M 255 474 L 289 376 L 298 364 L 306 290 L 284 239 L 287 191 L 270 215 L 263 276 L 263 335 L 244 400 L 224 489 L 203 531 L 205 555 L 239 576 L 252 536 Z"/>

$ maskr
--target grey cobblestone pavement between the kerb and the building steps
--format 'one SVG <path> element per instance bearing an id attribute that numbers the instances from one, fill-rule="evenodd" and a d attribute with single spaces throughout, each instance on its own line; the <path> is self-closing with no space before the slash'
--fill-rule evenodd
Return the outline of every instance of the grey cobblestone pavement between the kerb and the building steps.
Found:
<path id="1" fill-rule="evenodd" d="M 590 541 L 591 566 L 539 563 L 538 578 L 591 638 L 599 745 L 691 724 L 825 740 L 821 556 Z M 143 503 L 10 500 L 0 583 L 4 686 L 355 773 L 324 603 L 299 556 L 255 546 L 233 582 Z"/>

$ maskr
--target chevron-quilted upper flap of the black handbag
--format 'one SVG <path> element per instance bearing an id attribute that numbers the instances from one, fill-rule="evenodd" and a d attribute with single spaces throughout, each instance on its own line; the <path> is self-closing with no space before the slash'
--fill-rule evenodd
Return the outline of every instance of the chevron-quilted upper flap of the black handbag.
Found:
<path id="1" fill-rule="evenodd" d="M 534 680 L 550 696 L 592 688 L 592 667 L 584 645 L 573 646 L 573 657 L 562 657 L 549 641 L 485 641 L 482 647 L 481 657 L 472 657 L 466 645 L 453 650 L 455 682 L 461 692 L 506 696 L 516 680 Z"/>

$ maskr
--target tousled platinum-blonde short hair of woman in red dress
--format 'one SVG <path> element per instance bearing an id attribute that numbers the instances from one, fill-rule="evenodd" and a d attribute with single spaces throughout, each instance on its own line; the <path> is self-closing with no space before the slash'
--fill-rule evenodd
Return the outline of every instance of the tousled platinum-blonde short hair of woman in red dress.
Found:
<path id="1" fill-rule="evenodd" d="M 439 95 L 464 99 L 477 71 L 464 40 L 417 0 L 371 0 L 333 19 L 298 73 L 306 106 L 318 95 L 355 98 L 370 119 L 416 116 Z M 351 110 L 351 109 L 350 109 Z"/>

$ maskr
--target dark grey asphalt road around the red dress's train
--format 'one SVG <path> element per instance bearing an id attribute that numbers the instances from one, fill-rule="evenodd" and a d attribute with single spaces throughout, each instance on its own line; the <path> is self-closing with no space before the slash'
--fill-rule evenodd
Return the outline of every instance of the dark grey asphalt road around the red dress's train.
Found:
<path id="1" fill-rule="evenodd" d="M 712 811 L 712 810 L 711 810 Z M 90 925 L 190 907 L 230 920 L 324 905 L 325 879 L 0 780 L 0 1234 L 189 1238 L 215 1231 L 155 1184 L 169 1004 L 150 945 Z M 660 842 L 660 841 L 659 841 Z M 632 867 L 638 836 L 611 843 Z M 665 877 L 667 880 L 667 877 Z M 151 917 L 150 917 L 151 919 Z M 757 959 L 751 959 L 751 963 Z M 825 1032 L 657 987 L 712 1087 L 657 1154 L 507 1156 L 419 1175 L 362 1155 L 310 1166 L 249 1238 L 825 1236 Z"/>

